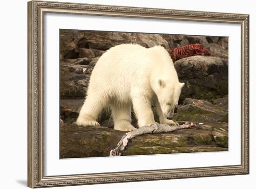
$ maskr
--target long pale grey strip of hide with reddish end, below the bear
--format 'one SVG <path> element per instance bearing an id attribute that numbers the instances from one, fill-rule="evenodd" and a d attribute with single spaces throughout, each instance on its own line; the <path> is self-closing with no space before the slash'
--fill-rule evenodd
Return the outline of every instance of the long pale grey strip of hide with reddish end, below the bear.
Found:
<path id="1" fill-rule="evenodd" d="M 148 133 L 174 132 L 176 130 L 187 129 L 193 126 L 195 126 L 195 124 L 192 122 L 191 123 L 186 122 L 185 124 L 180 126 L 169 126 L 166 124 L 159 124 L 159 123 L 153 123 L 150 126 L 142 126 L 141 128 L 135 131 L 125 133 L 121 138 L 121 140 L 116 145 L 116 148 L 110 151 L 109 156 L 121 156 L 122 152 L 126 149 L 128 142 L 132 138 L 135 138 L 136 136 L 140 136 Z"/>

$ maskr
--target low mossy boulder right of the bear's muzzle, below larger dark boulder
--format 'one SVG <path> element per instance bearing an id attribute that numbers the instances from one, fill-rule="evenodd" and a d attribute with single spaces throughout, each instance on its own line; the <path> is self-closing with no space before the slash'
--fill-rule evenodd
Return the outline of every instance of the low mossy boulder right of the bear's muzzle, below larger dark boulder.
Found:
<path id="1" fill-rule="evenodd" d="M 228 122 L 228 111 L 209 101 L 186 98 L 178 105 L 174 120 L 197 122 Z"/>

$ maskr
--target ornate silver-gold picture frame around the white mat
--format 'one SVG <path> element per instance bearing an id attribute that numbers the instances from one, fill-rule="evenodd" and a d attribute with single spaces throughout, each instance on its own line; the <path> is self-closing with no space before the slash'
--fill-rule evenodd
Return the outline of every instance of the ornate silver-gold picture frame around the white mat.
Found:
<path id="1" fill-rule="evenodd" d="M 45 14 L 93 15 L 207 23 L 237 24 L 241 27 L 241 163 L 224 166 L 178 169 L 105 171 L 86 174 L 45 175 Z M 57 47 L 58 48 L 58 47 Z M 232 52 L 230 52 L 232 53 Z M 58 64 L 58 63 L 56 63 Z M 234 118 L 230 118 L 234 119 Z M 249 15 L 107 6 L 63 2 L 28 2 L 28 186 L 30 188 L 97 183 L 227 176 L 249 174 Z"/>

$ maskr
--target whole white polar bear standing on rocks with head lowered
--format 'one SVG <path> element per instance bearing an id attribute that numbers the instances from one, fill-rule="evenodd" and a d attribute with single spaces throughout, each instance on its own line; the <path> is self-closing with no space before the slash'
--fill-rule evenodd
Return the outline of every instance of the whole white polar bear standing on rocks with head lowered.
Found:
<path id="1" fill-rule="evenodd" d="M 136 128 L 131 125 L 131 107 L 141 127 L 155 122 L 152 111 L 155 105 L 161 124 L 177 125 L 170 119 L 183 86 L 162 46 L 147 49 L 139 44 L 116 45 L 96 63 L 76 123 L 99 126 L 99 114 L 110 107 L 114 129 L 133 131 Z"/>

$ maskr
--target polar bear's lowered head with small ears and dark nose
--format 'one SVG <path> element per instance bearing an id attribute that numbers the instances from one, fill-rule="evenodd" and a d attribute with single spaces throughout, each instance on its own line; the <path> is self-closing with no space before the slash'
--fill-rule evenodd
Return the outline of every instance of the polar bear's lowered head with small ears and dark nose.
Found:
<path id="1" fill-rule="evenodd" d="M 184 83 L 158 80 L 158 87 L 155 93 L 165 118 L 172 119 L 175 106 L 178 105 L 183 87 Z"/>

